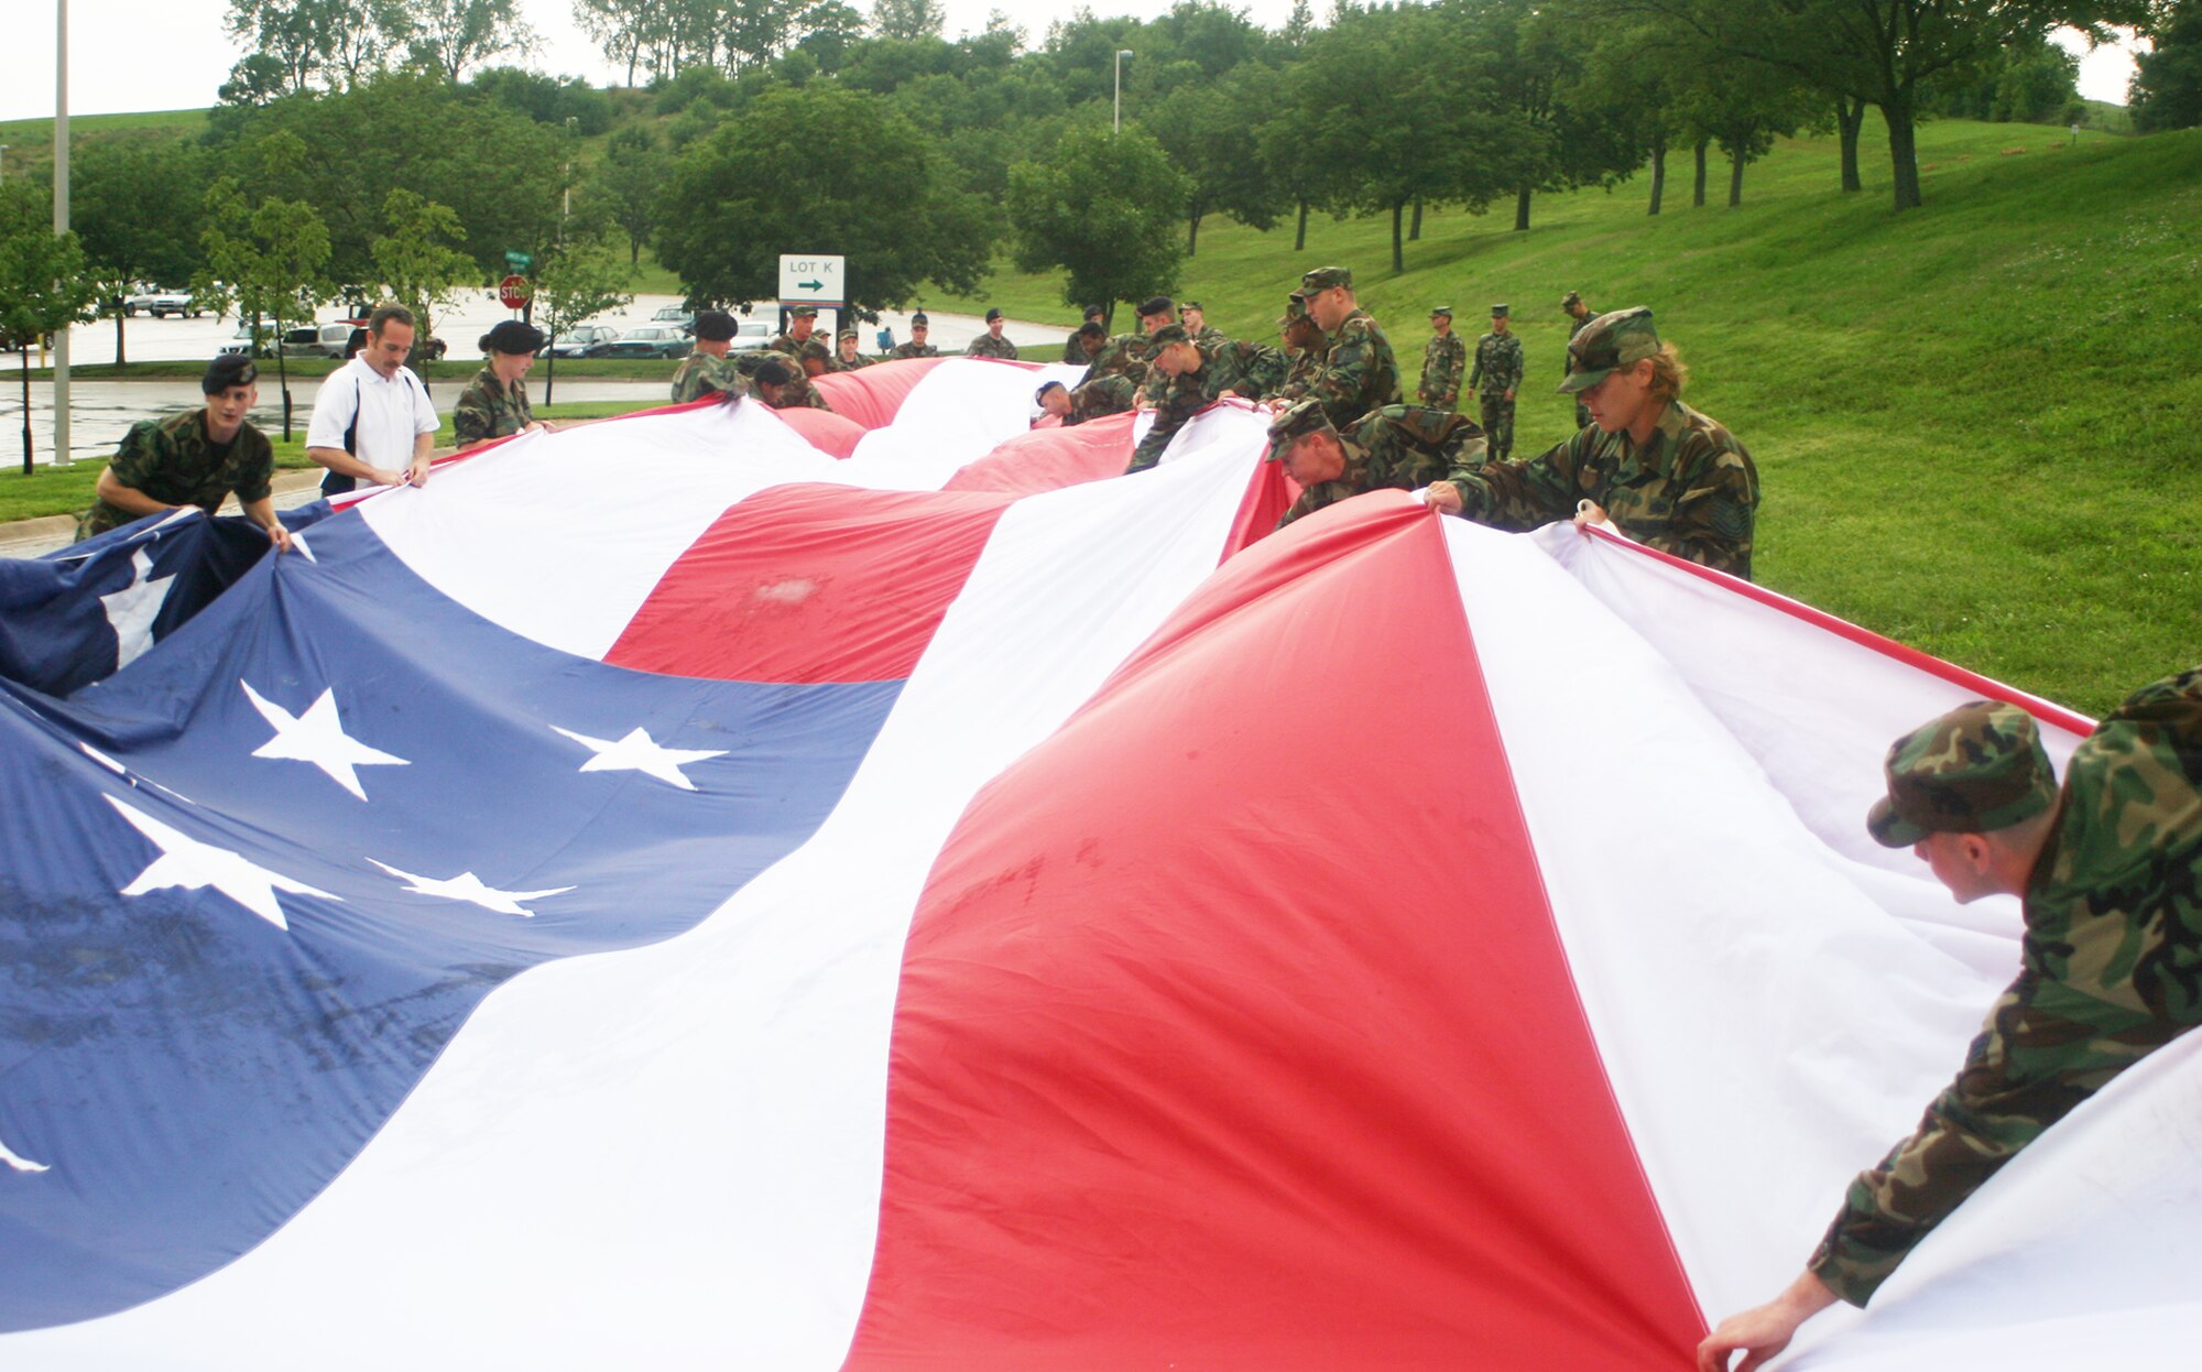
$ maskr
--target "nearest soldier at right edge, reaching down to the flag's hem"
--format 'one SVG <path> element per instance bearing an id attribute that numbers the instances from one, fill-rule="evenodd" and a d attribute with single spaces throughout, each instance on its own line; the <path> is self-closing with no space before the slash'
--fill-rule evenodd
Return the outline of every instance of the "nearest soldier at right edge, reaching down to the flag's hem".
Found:
<path id="1" fill-rule="evenodd" d="M 1863 1172 L 1779 1297 L 1724 1319 L 1700 1368 L 1779 1352 L 1863 1306 L 1936 1224 L 2118 1072 L 2202 1020 L 2202 667 L 2134 692 L 2063 786 L 2032 716 L 1975 700 L 1896 740 L 1865 819 L 1958 901 L 2021 899 L 2017 980 L 1920 1128 Z"/>

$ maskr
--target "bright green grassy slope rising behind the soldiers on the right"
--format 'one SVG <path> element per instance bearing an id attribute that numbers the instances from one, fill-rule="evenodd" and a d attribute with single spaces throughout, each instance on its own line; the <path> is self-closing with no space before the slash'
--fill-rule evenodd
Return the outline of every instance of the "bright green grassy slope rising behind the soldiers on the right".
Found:
<path id="1" fill-rule="evenodd" d="M 1515 456 L 1572 427 L 1559 297 L 1652 306 L 1689 403 L 1759 465 L 1762 584 L 2101 714 L 2202 661 L 2202 130 L 1927 123 L 1927 207 L 1903 216 L 1881 139 L 1869 121 L 1858 196 L 1832 139 L 1797 139 L 1735 209 L 1720 163 L 1689 207 L 1685 154 L 1658 218 L 1643 178 L 1539 196 L 1526 233 L 1511 205 L 1431 214 L 1403 275 L 1387 220 L 1317 218 L 1304 253 L 1211 220 L 1182 293 L 1273 339 L 1304 269 L 1352 266 L 1409 390 L 1431 304 L 1473 337 L 1508 302 L 1533 379 Z M 989 286 L 927 304 L 1075 319 L 1055 280 Z"/>

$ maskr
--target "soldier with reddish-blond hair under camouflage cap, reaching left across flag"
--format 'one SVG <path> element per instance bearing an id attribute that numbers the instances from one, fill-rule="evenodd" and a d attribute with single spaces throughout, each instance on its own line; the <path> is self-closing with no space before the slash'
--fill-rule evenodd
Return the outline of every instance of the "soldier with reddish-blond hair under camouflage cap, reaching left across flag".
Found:
<path id="1" fill-rule="evenodd" d="M 1599 315 L 1572 348 L 1561 390 L 1583 396 L 1592 425 L 1535 458 L 1493 458 L 1436 484 L 1429 502 L 1515 531 L 1610 518 L 1649 548 L 1748 579 L 1759 471 L 1729 429 L 1682 403 L 1687 374 L 1652 311 Z"/>

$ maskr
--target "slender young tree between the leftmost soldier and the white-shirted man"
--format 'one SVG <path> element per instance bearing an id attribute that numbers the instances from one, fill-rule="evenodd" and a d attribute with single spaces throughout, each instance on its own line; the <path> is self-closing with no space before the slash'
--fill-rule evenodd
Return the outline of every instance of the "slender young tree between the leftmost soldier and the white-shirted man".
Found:
<path id="1" fill-rule="evenodd" d="M 304 159 L 304 145 L 288 150 Z M 251 205 L 229 176 L 207 189 L 207 264 L 192 282 L 198 300 L 218 300 L 240 319 L 275 324 L 275 377 L 282 390 L 282 436 L 291 440 L 291 370 L 282 335 L 293 322 L 313 319 L 315 306 L 335 295 L 328 280 L 328 225 L 304 200 L 266 198 Z"/>

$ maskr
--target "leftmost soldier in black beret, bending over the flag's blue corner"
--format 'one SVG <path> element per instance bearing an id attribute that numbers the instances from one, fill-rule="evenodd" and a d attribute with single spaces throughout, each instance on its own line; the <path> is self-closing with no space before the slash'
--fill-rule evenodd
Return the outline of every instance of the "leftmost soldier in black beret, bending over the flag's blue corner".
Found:
<path id="1" fill-rule="evenodd" d="M 225 352 L 198 379 L 205 405 L 130 425 L 108 469 L 99 473 L 92 509 L 77 520 L 77 542 L 187 504 L 211 515 L 233 493 L 275 551 L 288 553 L 291 533 L 275 520 L 269 491 L 275 449 L 244 418 L 260 399 L 258 377 L 253 359 Z"/>

